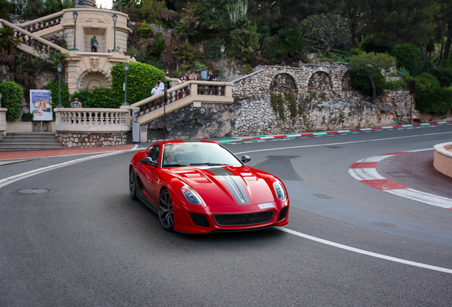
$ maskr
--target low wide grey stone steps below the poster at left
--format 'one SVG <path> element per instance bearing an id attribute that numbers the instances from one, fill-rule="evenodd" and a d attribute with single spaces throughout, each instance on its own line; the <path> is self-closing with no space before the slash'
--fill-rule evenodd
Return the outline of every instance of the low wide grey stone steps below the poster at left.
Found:
<path id="1" fill-rule="evenodd" d="M 0 141 L 0 151 L 64 149 L 55 132 L 14 132 Z"/>

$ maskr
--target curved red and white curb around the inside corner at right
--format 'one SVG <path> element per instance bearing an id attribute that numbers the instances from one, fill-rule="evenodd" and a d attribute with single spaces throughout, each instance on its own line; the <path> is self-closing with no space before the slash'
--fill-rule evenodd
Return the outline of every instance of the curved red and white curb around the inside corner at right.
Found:
<path id="1" fill-rule="evenodd" d="M 422 149 L 418 151 L 431 150 Z M 419 201 L 420 203 L 425 203 L 427 205 L 434 205 L 436 207 L 452 209 L 452 199 L 444 198 L 442 196 L 433 195 L 430 193 L 421 192 L 419 190 L 414 190 L 408 188 L 404 185 L 400 185 L 394 181 L 390 181 L 384 178 L 379 173 L 377 173 L 377 163 L 382 161 L 384 158 L 389 158 L 390 156 L 395 156 L 398 154 L 407 154 L 416 151 L 403 151 L 392 154 L 384 154 L 380 156 L 372 156 L 370 158 L 364 158 L 357 161 L 350 166 L 348 173 L 358 181 L 370 185 L 372 188 L 377 188 L 387 193 L 391 193 L 403 198 L 409 198 L 411 200 Z"/>

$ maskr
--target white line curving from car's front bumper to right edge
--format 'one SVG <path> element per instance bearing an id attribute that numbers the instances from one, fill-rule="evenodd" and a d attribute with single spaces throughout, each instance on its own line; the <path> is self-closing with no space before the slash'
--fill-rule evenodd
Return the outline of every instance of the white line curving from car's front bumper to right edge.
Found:
<path id="1" fill-rule="evenodd" d="M 401 263 L 401 264 L 408 264 L 410 266 L 417 266 L 417 267 L 420 267 L 420 268 L 423 268 L 423 269 L 430 269 L 430 270 L 433 270 L 433 271 L 440 271 L 440 272 L 443 272 L 443 273 L 452 274 L 452 269 L 446 269 L 446 268 L 443 268 L 441 266 L 432 266 L 430 264 L 422 264 L 422 263 L 419 263 L 419 262 L 412 262 L 412 261 L 405 260 L 405 259 L 400 259 L 400 258 L 396 258 L 396 257 L 386 256 L 384 254 L 377 254 L 375 252 L 369 252 L 369 251 L 366 251 L 364 249 L 357 249 L 355 247 L 349 247 L 347 245 L 343 245 L 343 244 L 327 241 L 325 239 L 320 239 L 318 237 L 313 237 L 313 236 L 310 236 L 310 235 L 306 235 L 306 234 L 303 234 L 301 232 L 296 232 L 295 230 L 289 230 L 289 229 L 284 228 L 284 227 L 276 227 L 276 229 L 281 230 L 283 232 L 287 232 L 287 233 L 289 233 L 291 235 L 296 235 L 297 237 L 302 237 L 304 239 L 310 239 L 311 241 L 319 242 L 319 243 L 322 243 L 322 244 L 327 244 L 327 245 L 330 245 L 332 247 L 338 247 L 340 249 L 345 249 L 345 250 L 348 250 L 350 252 L 356 252 L 358 254 L 365 254 L 367 256 L 380 258 L 380 259 L 384 259 L 384 260 L 389 260 L 391 262 L 398 262 L 398 263 Z"/>

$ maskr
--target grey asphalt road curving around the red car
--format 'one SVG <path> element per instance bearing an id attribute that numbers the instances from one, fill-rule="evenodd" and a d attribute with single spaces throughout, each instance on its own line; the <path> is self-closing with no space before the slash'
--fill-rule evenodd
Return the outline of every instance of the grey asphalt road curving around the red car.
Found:
<path id="1" fill-rule="evenodd" d="M 289 226 L 255 232 L 164 231 L 129 197 L 134 151 L 4 185 L 0 306 L 450 307 L 452 210 L 384 193 L 348 168 L 451 139 L 445 124 L 227 144 L 289 190 Z M 68 160 L 0 166 L 0 178 Z"/>

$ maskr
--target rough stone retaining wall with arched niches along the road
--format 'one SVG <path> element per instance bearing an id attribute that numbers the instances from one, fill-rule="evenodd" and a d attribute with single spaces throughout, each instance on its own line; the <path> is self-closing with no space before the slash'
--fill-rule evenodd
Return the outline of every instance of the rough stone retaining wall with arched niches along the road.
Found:
<path id="1" fill-rule="evenodd" d="M 166 115 L 166 139 L 357 129 L 452 117 L 452 114 L 436 117 L 420 114 L 405 90 L 387 90 L 372 104 L 369 97 L 350 89 L 348 65 L 334 64 L 302 68 L 264 66 L 234 81 L 233 104 L 188 106 Z M 284 100 L 284 118 L 274 111 L 271 92 L 294 93 L 296 102 Z M 163 139 L 163 118 L 148 127 L 149 139 Z"/>

